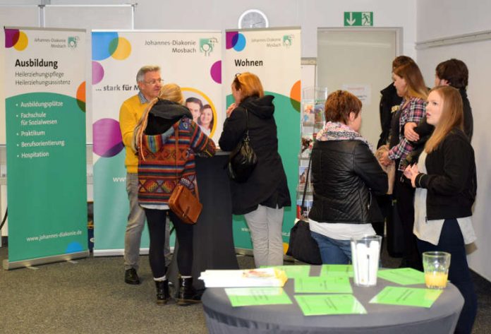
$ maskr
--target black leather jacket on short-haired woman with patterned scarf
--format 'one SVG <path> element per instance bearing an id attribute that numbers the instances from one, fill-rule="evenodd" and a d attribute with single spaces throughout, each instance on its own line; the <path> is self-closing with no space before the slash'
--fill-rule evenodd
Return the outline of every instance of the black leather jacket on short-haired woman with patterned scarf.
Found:
<path id="1" fill-rule="evenodd" d="M 363 141 L 315 141 L 312 183 L 309 218 L 348 224 L 383 220 L 372 192 L 387 193 L 387 174 Z"/>

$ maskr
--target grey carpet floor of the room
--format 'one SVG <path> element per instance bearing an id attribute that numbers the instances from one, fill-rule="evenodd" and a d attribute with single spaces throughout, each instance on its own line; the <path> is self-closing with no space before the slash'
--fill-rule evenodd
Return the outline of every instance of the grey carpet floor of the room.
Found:
<path id="1" fill-rule="evenodd" d="M 1 261 L 7 251 L 0 248 Z M 253 267 L 251 256 L 238 262 Z M 399 262 L 382 254 L 386 268 Z M 0 333 L 207 333 L 201 304 L 157 306 L 147 256 L 140 266 L 143 282 L 136 286 L 123 282 L 119 256 L 0 270 Z M 473 333 L 491 333 L 491 283 L 474 278 L 479 309 Z"/>

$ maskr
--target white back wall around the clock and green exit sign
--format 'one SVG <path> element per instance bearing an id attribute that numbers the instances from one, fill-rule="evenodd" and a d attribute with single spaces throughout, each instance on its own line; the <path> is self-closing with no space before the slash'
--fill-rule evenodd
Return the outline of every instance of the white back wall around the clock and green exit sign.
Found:
<path id="1" fill-rule="evenodd" d="M 374 26 L 403 27 L 404 54 L 413 56 L 416 36 L 416 3 L 393 0 L 186 0 L 138 1 L 136 29 L 237 28 L 243 11 L 257 8 L 266 13 L 270 27 L 300 26 L 302 56 L 317 56 L 317 28 L 343 27 L 345 11 L 372 11 Z"/>

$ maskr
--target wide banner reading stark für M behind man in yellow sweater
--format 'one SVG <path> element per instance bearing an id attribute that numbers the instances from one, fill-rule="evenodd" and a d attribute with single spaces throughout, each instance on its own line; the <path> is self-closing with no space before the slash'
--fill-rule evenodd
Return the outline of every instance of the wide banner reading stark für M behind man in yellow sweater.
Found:
<path id="1" fill-rule="evenodd" d="M 123 254 L 129 203 L 119 109 L 138 94 L 136 73 L 142 66 L 158 65 L 164 84 L 177 83 L 185 98 L 196 97 L 202 105 L 210 105 L 210 136 L 217 142 L 225 114 L 221 40 L 220 31 L 92 31 L 96 256 Z M 145 227 L 143 251 L 148 243 Z"/>

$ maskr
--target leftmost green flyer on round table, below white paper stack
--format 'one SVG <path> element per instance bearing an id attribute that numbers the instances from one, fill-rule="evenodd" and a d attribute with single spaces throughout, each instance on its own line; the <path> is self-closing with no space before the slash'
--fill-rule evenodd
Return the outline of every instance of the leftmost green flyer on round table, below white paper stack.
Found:
<path id="1" fill-rule="evenodd" d="M 282 287 L 227 287 L 225 293 L 233 307 L 292 304 Z"/>

